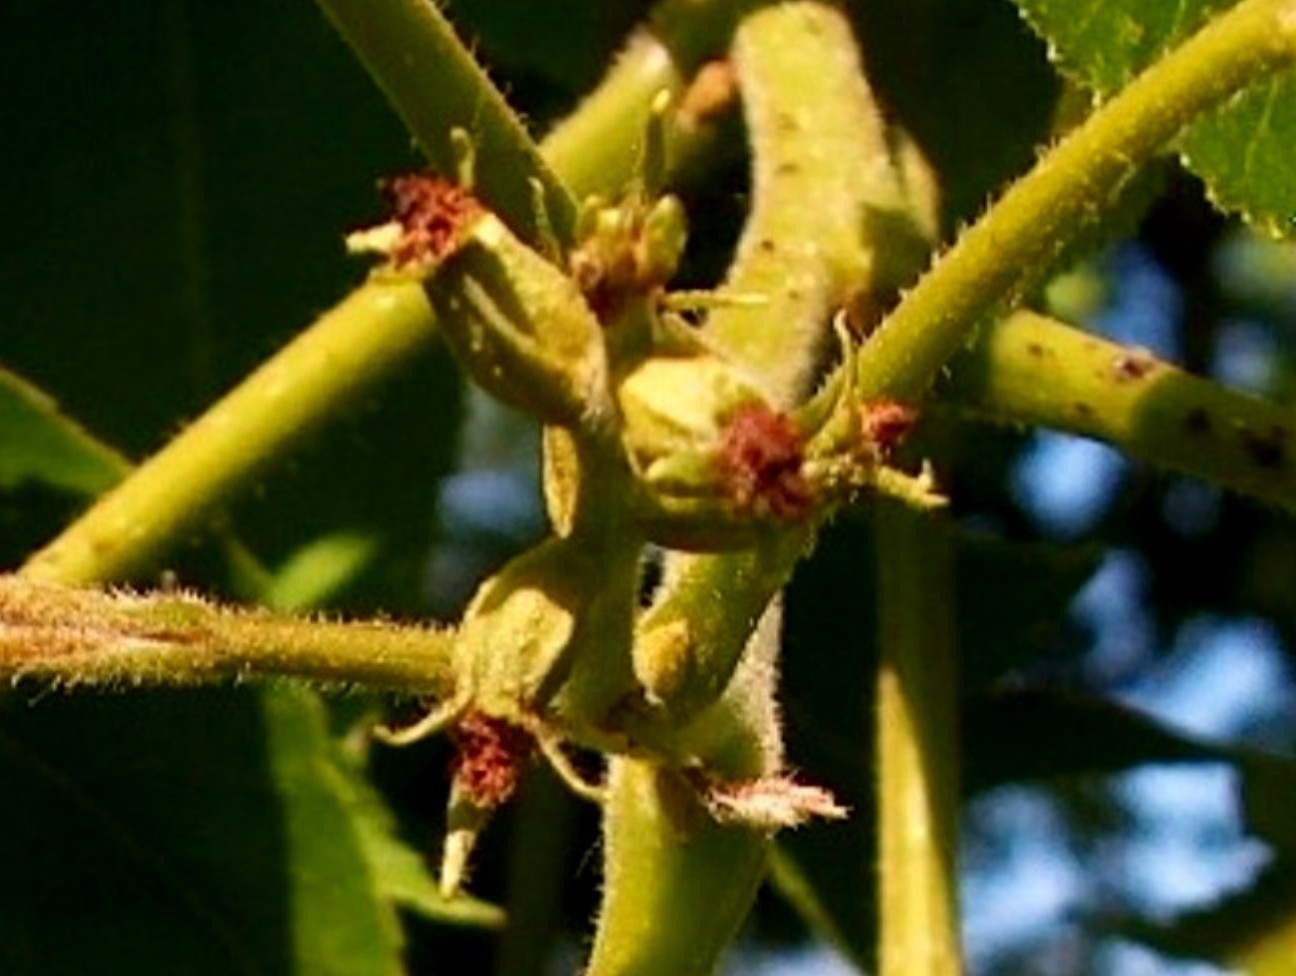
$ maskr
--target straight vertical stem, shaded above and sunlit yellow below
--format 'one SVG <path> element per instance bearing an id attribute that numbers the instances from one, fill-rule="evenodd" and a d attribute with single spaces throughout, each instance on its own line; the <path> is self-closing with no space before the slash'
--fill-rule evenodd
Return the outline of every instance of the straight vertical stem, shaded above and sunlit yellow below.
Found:
<path id="1" fill-rule="evenodd" d="M 879 976 L 962 972 L 953 553 L 945 526 L 879 504 Z"/>

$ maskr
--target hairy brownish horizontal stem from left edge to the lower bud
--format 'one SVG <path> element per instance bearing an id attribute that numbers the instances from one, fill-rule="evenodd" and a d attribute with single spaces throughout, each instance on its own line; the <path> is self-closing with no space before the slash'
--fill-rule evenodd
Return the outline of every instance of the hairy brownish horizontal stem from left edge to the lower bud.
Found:
<path id="1" fill-rule="evenodd" d="M 450 631 L 79 590 L 0 575 L 0 680 L 183 686 L 295 677 L 451 697 Z"/>

